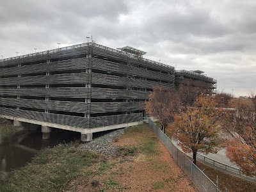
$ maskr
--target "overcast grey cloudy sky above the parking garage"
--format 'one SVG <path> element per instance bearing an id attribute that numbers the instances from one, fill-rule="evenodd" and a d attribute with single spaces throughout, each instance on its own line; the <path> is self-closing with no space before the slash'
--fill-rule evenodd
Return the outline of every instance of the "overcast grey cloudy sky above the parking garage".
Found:
<path id="1" fill-rule="evenodd" d="M 177 69 L 203 70 L 219 91 L 256 92 L 256 1 L 0 2 L 0 56 L 87 42 L 130 45 Z"/>

